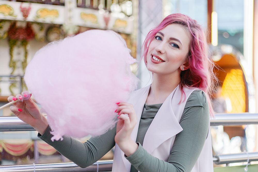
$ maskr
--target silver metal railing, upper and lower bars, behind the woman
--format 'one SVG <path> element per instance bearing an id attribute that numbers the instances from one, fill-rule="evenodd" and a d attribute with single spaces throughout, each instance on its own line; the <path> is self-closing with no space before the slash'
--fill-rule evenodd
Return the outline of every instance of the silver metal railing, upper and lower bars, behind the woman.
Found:
<path id="1" fill-rule="evenodd" d="M 223 125 L 246 125 L 258 124 L 258 113 L 230 113 L 215 114 L 215 119 L 211 120 L 211 126 Z M 24 123 L 17 117 L 0 117 L 0 132 L 3 131 L 32 131 L 35 130 L 30 125 Z M 218 154 L 213 157 L 216 164 L 228 164 L 235 162 L 258 161 L 258 152 L 242 152 L 236 154 Z M 113 161 L 98 161 L 87 168 L 80 168 L 75 163 L 44 163 L 44 164 L 27 164 L 27 165 L 8 165 L 0 166 L 1 171 L 111 171 Z"/>

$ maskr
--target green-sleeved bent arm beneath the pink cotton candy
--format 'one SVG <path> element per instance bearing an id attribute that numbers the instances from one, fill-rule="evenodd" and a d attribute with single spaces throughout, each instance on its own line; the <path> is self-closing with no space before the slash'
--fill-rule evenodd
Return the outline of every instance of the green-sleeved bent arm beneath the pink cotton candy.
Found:
<path id="1" fill-rule="evenodd" d="M 50 127 L 48 127 L 40 138 L 82 168 L 92 165 L 115 145 L 113 137 L 115 128 L 100 137 L 90 138 L 85 143 L 69 136 L 63 136 L 62 141 L 52 142 L 51 137 L 53 135 L 50 134 L 50 130 Z"/>

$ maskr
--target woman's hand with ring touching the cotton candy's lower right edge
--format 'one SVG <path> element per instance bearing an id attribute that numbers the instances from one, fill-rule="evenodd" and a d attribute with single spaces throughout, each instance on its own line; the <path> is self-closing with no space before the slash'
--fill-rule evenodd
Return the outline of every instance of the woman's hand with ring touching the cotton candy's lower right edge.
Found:
<path id="1" fill-rule="evenodd" d="M 119 107 L 116 112 L 119 115 L 119 120 L 116 126 L 115 142 L 126 156 L 130 156 L 138 148 L 138 144 L 131 139 L 133 128 L 137 123 L 137 117 L 132 104 L 122 102 L 117 105 Z"/>

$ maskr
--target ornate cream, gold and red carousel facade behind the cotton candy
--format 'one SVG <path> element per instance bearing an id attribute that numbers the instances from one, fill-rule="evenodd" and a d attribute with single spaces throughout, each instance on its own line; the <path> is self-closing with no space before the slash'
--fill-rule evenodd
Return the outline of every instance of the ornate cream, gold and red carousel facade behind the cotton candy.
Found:
<path id="1" fill-rule="evenodd" d="M 27 64 L 36 51 L 52 41 L 91 29 L 114 30 L 125 39 L 131 55 L 136 58 L 135 2 L 0 1 L 0 106 L 7 103 L 8 96 L 27 90 L 23 80 Z M 0 116 L 14 115 L 7 107 L 0 110 Z M 34 131 L 0 132 L 1 165 L 43 162 L 41 159 L 46 156 L 45 160 L 58 162 L 50 158 L 54 155 L 59 156 L 58 161 L 65 160 L 54 148 L 38 140 Z M 107 159 L 112 159 L 112 154 Z"/>

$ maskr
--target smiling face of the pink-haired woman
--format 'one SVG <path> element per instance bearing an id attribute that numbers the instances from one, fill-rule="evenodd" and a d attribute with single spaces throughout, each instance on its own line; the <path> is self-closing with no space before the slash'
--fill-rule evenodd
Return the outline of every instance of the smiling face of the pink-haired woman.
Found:
<path id="1" fill-rule="evenodd" d="M 180 76 L 188 69 L 190 32 L 181 24 L 170 24 L 160 30 L 151 41 L 147 53 L 147 69 L 153 73 Z"/>

